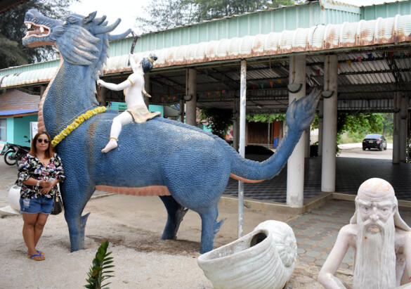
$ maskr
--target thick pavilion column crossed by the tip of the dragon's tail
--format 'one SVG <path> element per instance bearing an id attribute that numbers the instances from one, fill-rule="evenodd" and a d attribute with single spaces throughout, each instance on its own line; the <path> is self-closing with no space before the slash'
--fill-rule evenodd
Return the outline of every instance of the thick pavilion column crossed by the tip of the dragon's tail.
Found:
<path id="1" fill-rule="evenodd" d="M 302 84 L 300 91 L 288 94 L 289 103 L 306 95 L 306 56 L 289 57 L 289 81 L 291 84 Z M 304 205 L 304 155 L 306 132 L 301 134 L 292 155 L 287 162 L 287 205 L 303 207 Z"/>

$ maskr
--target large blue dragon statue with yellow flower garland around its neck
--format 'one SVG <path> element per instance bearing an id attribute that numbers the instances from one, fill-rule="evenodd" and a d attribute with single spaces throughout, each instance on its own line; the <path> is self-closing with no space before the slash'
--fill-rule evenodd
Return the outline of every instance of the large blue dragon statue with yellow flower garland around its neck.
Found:
<path id="1" fill-rule="evenodd" d="M 289 106 L 289 130 L 280 148 L 265 162 L 246 160 L 217 136 L 162 117 L 126 124 L 119 147 L 101 153 L 117 111 L 99 113 L 96 80 L 98 72 L 103 73 L 109 41 L 131 32 L 110 35 L 119 22 L 107 25 L 105 16 L 96 18 L 96 12 L 86 17 L 71 14 L 63 21 L 35 10 L 25 15 L 29 30 L 23 44 L 55 45 L 62 56 L 41 100 L 39 129 L 45 128 L 53 138 L 64 135 L 56 148 L 67 176 L 61 191 L 71 250 L 84 248 L 89 214 L 81 214 L 97 187 L 159 195 L 168 213 L 162 239 L 176 238 L 187 209 L 197 212 L 202 219 L 200 252 L 208 252 L 213 250 L 214 236 L 223 222 L 217 221 L 217 205 L 230 176 L 256 182 L 279 174 L 302 131 L 313 121 L 319 92 Z"/>

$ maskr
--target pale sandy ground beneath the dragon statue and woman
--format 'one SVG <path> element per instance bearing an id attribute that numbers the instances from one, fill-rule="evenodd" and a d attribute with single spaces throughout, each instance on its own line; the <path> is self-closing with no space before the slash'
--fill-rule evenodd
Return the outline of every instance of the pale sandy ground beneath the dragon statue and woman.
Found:
<path id="1" fill-rule="evenodd" d="M 115 264 L 110 288 L 212 288 L 197 265 L 200 256 L 200 217 L 186 214 L 178 240 L 160 240 L 167 212 L 157 197 L 109 195 L 89 201 L 86 250 L 70 253 L 70 240 L 63 214 L 48 218 L 37 245 L 46 259 L 27 259 L 22 240 L 22 218 L 0 219 L 0 288 L 81 288 L 103 240 L 109 240 Z M 219 217 L 228 219 L 217 233 L 214 248 L 237 238 L 237 207 L 219 206 Z M 294 216 L 295 217 L 295 216 Z M 253 212 L 244 208 L 244 234 L 267 219 L 289 221 L 288 214 Z M 317 266 L 297 264 L 287 288 L 322 288 Z"/>

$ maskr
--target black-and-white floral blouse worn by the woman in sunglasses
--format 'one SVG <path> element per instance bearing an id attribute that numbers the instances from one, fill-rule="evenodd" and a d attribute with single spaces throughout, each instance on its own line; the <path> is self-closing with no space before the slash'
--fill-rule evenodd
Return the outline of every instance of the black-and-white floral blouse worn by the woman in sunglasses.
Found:
<path id="1" fill-rule="evenodd" d="M 23 184 L 30 177 L 39 180 L 48 180 L 50 178 L 59 179 L 60 182 L 65 180 L 63 165 L 60 157 L 53 153 L 53 158 L 50 159 L 46 167 L 43 166 L 39 158 L 28 154 L 21 159 L 18 166 L 18 179 L 15 184 L 21 186 L 20 198 L 39 198 L 41 186 L 29 186 Z M 53 198 L 54 194 L 58 192 L 57 186 L 53 186 L 46 198 Z"/>

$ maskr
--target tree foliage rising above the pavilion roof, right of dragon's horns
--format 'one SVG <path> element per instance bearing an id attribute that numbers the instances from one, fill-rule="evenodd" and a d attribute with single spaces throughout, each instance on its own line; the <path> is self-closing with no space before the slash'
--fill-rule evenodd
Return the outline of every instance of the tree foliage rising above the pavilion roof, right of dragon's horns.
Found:
<path id="1" fill-rule="evenodd" d="M 136 22 L 140 30 L 150 32 L 292 4 L 289 0 L 150 0 L 144 7 L 147 16 Z"/>

